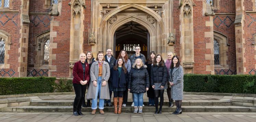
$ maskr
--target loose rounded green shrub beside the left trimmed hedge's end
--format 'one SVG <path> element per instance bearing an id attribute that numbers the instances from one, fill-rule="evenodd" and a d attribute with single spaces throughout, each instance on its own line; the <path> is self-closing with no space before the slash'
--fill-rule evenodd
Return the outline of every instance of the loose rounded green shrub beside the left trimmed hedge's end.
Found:
<path id="1" fill-rule="evenodd" d="M 58 83 L 55 84 L 55 92 L 72 92 L 73 83 L 72 80 L 60 79 Z"/>

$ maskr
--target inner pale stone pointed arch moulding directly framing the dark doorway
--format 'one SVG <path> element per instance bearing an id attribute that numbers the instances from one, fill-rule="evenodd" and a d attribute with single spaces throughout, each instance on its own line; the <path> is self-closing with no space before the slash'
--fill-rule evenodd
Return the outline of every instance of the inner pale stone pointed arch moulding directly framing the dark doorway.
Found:
<path id="1" fill-rule="evenodd" d="M 112 45 L 113 44 L 113 40 L 114 40 L 114 34 L 115 34 L 115 31 L 121 27 L 123 24 L 127 23 L 127 22 L 130 22 L 130 21 L 135 21 L 135 22 L 138 22 L 140 25 L 142 25 L 144 28 L 146 28 L 148 31 L 149 31 L 149 34 L 150 34 L 150 42 L 156 42 L 155 41 L 155 36 L 156 36 L 156 32 L 155 32 L 155 28 L 154 26 L 146 21 L 145 19 L 141 18 L 141 17 L 138 17 L 138 16 L 135 16 L 135 15 L 129 15 L 125 18 L 122 18 L 118 21 L 116 21 L 113 25 L 111 25 L 110 29 L 108 30 L 109 32 L 109 35 L 108 36 L 108 47 L 110 47 L 111 49 L 114 48 Z M 101 30 L 103 31 L 103 30 Z M 152 46 L 151 46 L 152 48 Z M 106 50 L 106 49 L 105 49 Z"/>

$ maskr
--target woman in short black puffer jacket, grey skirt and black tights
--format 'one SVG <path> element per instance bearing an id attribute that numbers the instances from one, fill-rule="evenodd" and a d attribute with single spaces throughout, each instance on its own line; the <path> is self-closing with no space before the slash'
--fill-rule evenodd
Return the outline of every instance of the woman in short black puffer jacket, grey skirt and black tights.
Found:
<path id="1" fill-rule="evenodd" d="M 156 55 L 151 68 L 151 85 L 155 93 L 155 114 L 162 114 L 164 104 L 164 90 L 167 89 L 167 68 L 161 55 Z M 158 97 L 160 96 L 160 108 L 158 111 Z"/>

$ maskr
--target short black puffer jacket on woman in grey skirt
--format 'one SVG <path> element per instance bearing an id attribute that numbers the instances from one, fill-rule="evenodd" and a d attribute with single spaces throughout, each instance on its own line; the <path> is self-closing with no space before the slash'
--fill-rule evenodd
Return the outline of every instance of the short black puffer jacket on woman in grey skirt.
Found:
<path id="1" fill-rule="evenodd" d="M 162 83 L 161 86 L 165 86 L 167 83 L 167 75 L 168 71 L 166 66 L 152 66 L 151 67 L 151 80 L 150 85 L 154 85 L 154 83 Z"/>

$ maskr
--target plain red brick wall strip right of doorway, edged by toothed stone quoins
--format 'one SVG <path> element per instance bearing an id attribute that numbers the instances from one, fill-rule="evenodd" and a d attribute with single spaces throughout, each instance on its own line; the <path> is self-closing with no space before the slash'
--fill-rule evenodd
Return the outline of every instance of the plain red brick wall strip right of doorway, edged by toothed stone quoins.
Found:
<path id="1" fill-rule="evenodd" d="M 203 16 L 203 2 L 195 1 L 193 6 L 193 28 L 194 28 L 194 73 L 210 74 L 206 71 L 206 66 L 210 65 L 210 60 L 205 59 L 205 54 L 211 54 L 210 49 L 206 49 L 206 44 L 210 42 L 210 38 L 204 37 L 204 32 L 210 32 L 210 27 L 205 26 L 206 21 L 210 21 L 210 17 Z"/>

